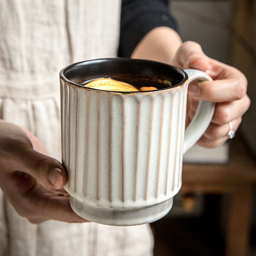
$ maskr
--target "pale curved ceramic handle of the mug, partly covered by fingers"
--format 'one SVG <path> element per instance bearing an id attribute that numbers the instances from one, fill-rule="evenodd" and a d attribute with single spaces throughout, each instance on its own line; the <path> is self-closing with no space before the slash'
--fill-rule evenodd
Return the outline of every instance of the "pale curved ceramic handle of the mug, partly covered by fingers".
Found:
<path id="1" fill-rule="evenodd" d="M 212 81 L 212 78 L 197 69 L 185 69 L 188 75 L 188 83 L 198 81 Z M 195 116 L 191 120 L 188 127 L 185 129 L 183 154 L 191 148 L 201 138 L 205 130 L 211 123 L 213 113 L 215 110 L 215 103 L 210 101 L 200 100 Z"/>

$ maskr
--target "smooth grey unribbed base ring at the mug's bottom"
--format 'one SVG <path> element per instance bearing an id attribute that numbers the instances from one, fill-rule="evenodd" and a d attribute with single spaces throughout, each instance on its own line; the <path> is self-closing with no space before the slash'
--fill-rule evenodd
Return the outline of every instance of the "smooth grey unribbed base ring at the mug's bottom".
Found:
<path id="1" fill-rule="evenodd" d="M 173 198 L 143 208 L 104 208 L 84 203 L 70 195 L 72 210 L 82 218 L 111 226 L 134 226 L 151 223 L 165 216 L 172 208 Z"/>

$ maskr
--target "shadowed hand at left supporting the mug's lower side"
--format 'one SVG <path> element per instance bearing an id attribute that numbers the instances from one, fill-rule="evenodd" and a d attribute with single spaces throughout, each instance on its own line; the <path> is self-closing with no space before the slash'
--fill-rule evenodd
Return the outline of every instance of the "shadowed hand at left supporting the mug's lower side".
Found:
<path id="1" fill-rule="evenodd" d="M 20 216 L 34 224 L 86 222 L 69 206 L 66 181 L 61 163 L 31 132 L 0 121 L 0 186 Z"/>

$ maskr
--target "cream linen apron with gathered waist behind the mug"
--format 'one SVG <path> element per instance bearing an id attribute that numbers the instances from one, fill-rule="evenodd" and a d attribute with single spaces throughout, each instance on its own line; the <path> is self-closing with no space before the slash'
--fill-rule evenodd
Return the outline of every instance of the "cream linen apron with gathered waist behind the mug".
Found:
<path id="1" fill-rule="evenodd" d="M 0 118 L 31 130 L 61 161 L 59 71 L 114 57 L 119 0 L 0 0 Z M 0 190 L 0 255 L 152 255 L 149 225 L 30 224 Z"/>

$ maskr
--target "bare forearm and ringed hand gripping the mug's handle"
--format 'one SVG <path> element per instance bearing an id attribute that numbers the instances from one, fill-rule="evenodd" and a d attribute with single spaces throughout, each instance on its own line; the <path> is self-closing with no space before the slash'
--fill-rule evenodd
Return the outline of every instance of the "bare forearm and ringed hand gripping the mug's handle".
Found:
<path id="1" fill-rule="evenodd" d="M 232 122 L 232 129 L 237 130 L 242 115 L 250 106 L 246 95 L 247 80 L 239 70 L 209 58 L 196 42 L 182 43 L 179 34 L 168 27 L 157 27 L 148 32 L 131 57 L 160 61 L 181 69 L 199 69 L 212 77 L 213 82 L 188 86 L 187 124 L 195 114 L 199 99 L 216 102 L 212 122 L 198 145 L 216 147 L 223 144 L 229 138 L 229 122 Z"/>

